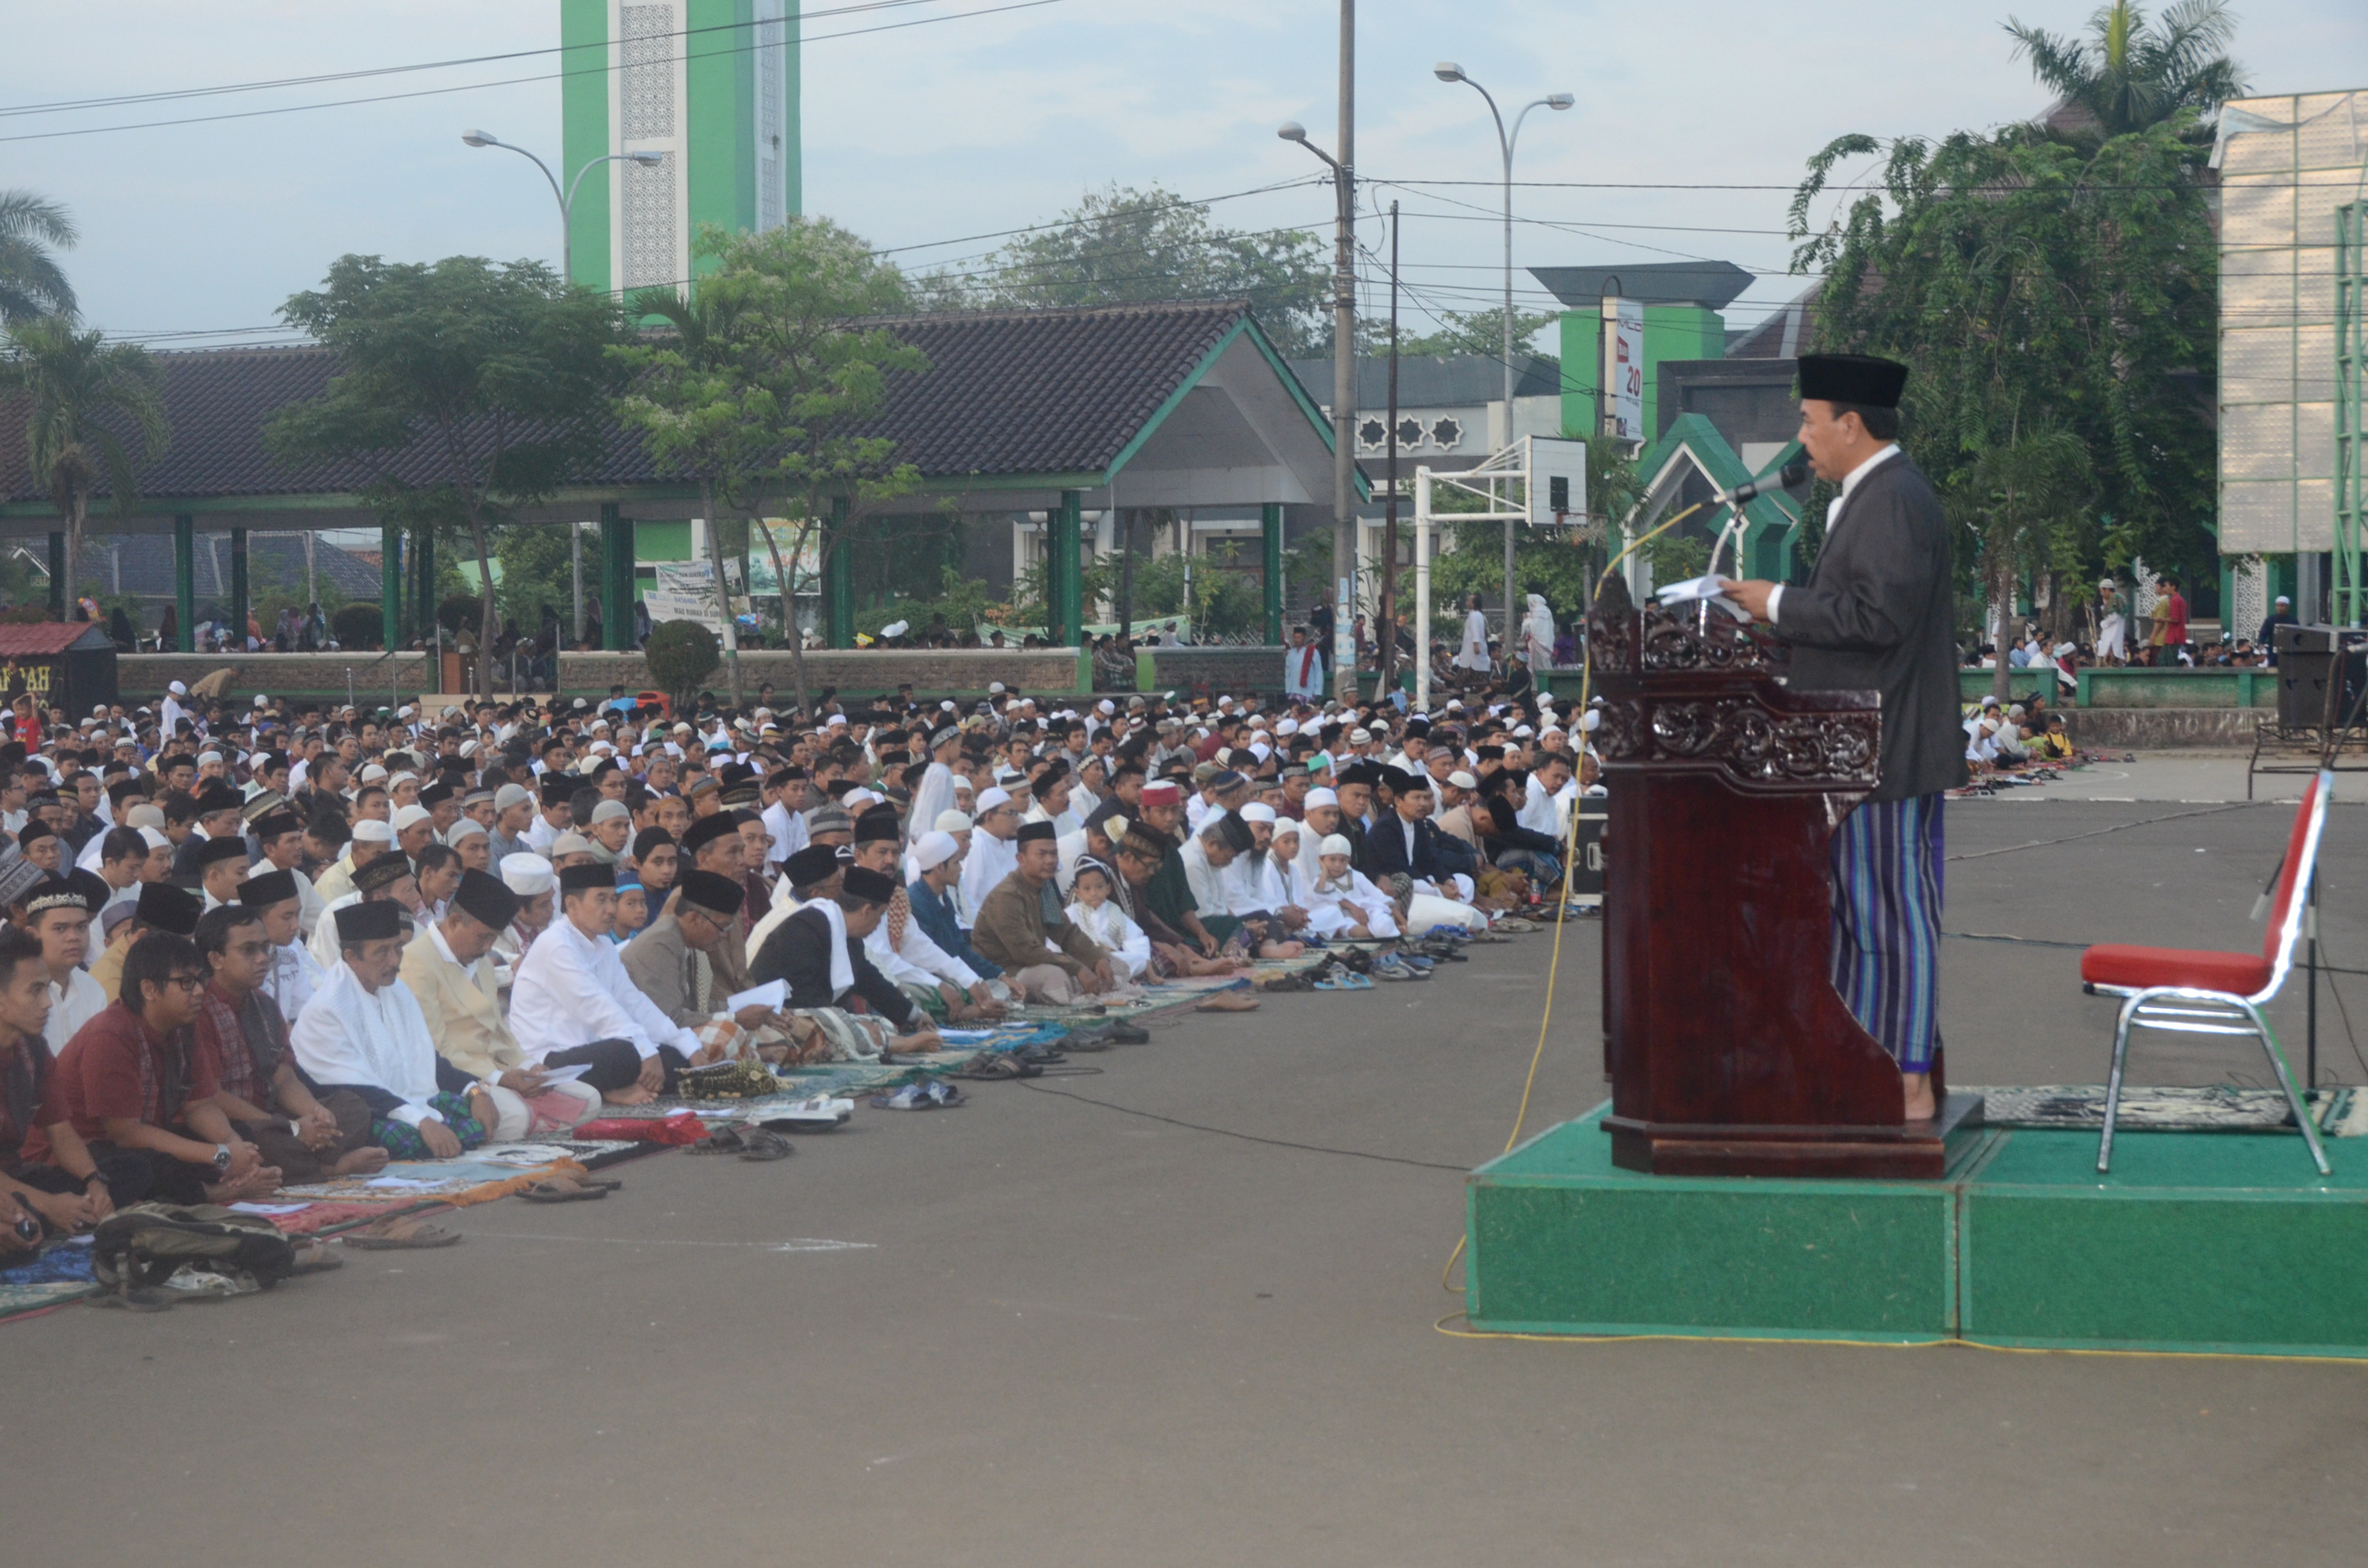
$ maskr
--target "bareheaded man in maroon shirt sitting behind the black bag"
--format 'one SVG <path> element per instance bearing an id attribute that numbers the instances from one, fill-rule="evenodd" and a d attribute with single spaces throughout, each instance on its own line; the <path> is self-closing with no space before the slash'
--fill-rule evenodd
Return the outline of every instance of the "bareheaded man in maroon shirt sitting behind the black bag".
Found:
<path id="1" fill-rule="evenodd" d="M 263 1163 L 213 1104 L 220 1092 L 211 1066 L 189 1049 L 189 1023 L 206 985 L 197 945 L 170 931 L 144 933 L 123 959 L 123 990 L 85 1023 L 57 1056 L 54 1087 L 73 1132 L 92 1158 L 135 1156 L 109 1165 L 118 1206 L 242 1203 L 279 1189 L 279 1170 Z M 50 1137 L 26 1139 L 28 1161 L 50 1156 Z M 128 1182 L 128 1187 L 126 1187 Z"/>

